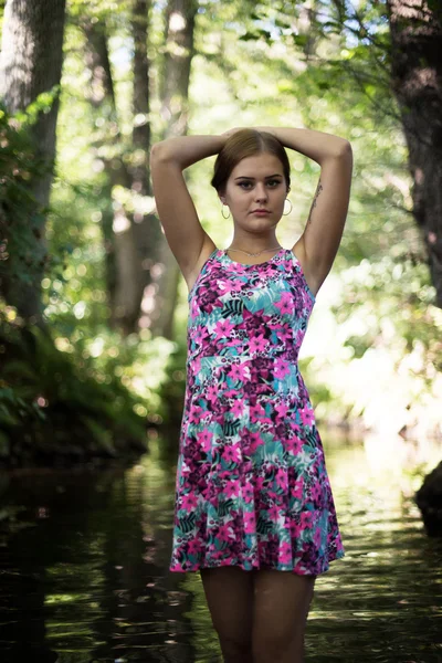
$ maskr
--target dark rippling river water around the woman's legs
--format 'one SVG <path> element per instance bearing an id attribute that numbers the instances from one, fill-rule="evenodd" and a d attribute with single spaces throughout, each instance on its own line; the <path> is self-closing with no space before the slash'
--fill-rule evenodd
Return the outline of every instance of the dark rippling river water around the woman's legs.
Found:
<path id="1" fill-rule="evenodd" d="M 346 556 L 316 581 L 306 661 L 442 663 L 442 539 L 412 498 L 442 446 L 322 438 Z M 162 446 L 126 470 L 2 472 L 1 663 L 221 663 L 199 573 L 168 571 Z"/>

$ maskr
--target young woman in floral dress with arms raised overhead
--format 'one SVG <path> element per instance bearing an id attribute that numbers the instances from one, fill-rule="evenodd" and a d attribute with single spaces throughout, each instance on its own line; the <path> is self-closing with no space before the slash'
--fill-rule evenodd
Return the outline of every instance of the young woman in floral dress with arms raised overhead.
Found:
<path id="1" fill-rule="evenodd" d="M 285 147 L 320 177 L 305 230 L 283 249 Z M 182 177 L 218 154 L 232 215 L 225 251 Z M 311 129 L 234 128 L 154 145 L 157 211 L 189 288 L 188 360 L 171 571 L 200 571 L 227 663 L 299 663 L 316 577 L 344 546 L 297 357 L 347 217 L 350 144 Z"/>

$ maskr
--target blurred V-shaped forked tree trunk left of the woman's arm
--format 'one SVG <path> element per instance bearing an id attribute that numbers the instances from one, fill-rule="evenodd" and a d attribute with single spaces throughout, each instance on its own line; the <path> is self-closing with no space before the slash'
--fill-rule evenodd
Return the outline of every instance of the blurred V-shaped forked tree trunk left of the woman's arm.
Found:
<path id="1" fill-rule="evenodd" d="M 147 44 L 149 0 L 133 0 L 129 6 L 133 39 L 133 131 L 129 140 L 118 127 L 115 86 L 109 64 L 108 27 L 87 15 L 81 19 L 87 38 L 86 62 L 91 71 L 90 101 L 107 122 L 93 148 L 103 159 L 108 181 L 108 202 L 102 210 L 102 228 L 106 248 L 107 286 L 110 324 L 124 334 L 136 332 L 146 311 L 144 297 L 150 297 L 149 284 L 158 271 L 158 245 L 161 232 L 158 219 L 146 201 L 151 197 L 148 170 L 150 146 L 150 90 Z M 114 187 L 130 192 L 130 204 L 113 200 Z M 151 207 L 151 206 L 150 206 Z M 149 322 L 147 322 L 147 325 Z"/>

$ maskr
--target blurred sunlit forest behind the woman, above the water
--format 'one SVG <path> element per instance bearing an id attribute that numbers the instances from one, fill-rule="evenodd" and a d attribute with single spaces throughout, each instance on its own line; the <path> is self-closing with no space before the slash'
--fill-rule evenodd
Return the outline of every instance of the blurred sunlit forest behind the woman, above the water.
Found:
<path id="1" fill-rule="evenodd" d="M 442 434 L 440 12 L 418 0 L 0 4 L 0 462 L 129 457 L 166 430 L 177 451 L 188 293 L 149 150 L 233 126 L 351 143 L 347 223 L 299 356 L 319 425 Z M 319 176 L 287 152 L 283 246 Z M 213 162 L 185 176 L 224 248 Z"/>

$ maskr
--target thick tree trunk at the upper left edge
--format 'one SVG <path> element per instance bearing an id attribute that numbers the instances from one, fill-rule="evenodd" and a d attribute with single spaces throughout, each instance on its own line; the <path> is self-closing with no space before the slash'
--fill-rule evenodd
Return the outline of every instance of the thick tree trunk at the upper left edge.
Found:
<path id="1" fill-rule="evenodd" d="M 9 113 L 24 110 L 43 92 L 60 84 L 63 62 L 65 0 L 8 0 L 4 8 L 0 59 L 0 96 Z M 55 159 L 55 128 L 59 94 L 49 113 L 40 113 L 32 128 L 35 159 L 43 158 L 49 168 L 28 186 L 35 198 L 35 214 L 25 228 L 6 217 L 9 234 L 25 236 L 28 251 L 11 251 L 7 272 L 27 274 L 19 282 L 8 273 L 1 284 L 6 301 L 15 306 L 30 323 L 42 324 L 41 281 L 48 260 L 45 210 L 48 208 Z M 18 264 L 20 261 L 20 264 Z"/>

